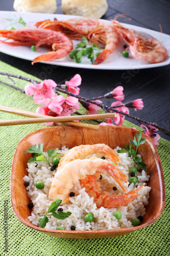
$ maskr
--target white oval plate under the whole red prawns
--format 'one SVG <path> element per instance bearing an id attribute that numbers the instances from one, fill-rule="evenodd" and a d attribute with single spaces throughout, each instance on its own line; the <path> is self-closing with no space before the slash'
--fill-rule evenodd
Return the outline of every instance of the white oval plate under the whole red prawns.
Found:
<path id="1" fill-rule="evenodd" d="M 0 30 L 5 29 L 5 27 L 9 24 L 8 19 L 14 19 L 18 20 L 19 17 L 22 17 L 22 19 L 29 23 L 29 27 L 34 27 L 34 23 L 38 22 L 40 20 L 44 19 L 51 19 L 57 18 L 58 20 L 64 20 L 69 18 L 74 18 L 78 16 L 73 15 L 62 15 L 62 14 L 47 14 L 47 13 L 18 13 L 18 12 L 8 12 L 8 11 L 0 11 Z M 103 22 L 110 23 L 109 20 L 102 19 Z M 150 64 L 146 63 L 144 61 L 140 61 L 138 59 L 135 59 L 132 57 L 131 53 L 129 54 L 128 58 L 125 58 L 122 56 L 122 52 L 124 51 L 123 46 L 125 45 L 125 42 L 122 38 L 120 38 L 120 41 L 116 47 L 116 50 L 114 53 L 110 54 L 110 56 L 99 65 L 92 65 L 90 60 L 86 57 L 83 57 L 82 63 L 76 63 L 74 60 L 71 60 L 69 56 L 67 55 L 64 58 L 53 60 L 53 61 L 41 61 L 41 63 L 47 63 L 50 65 L 57 65 L 57 66 L 65 66 L 65 67 L 71 67 L 71 68 L 84 68 L 84 69 L 101 69 L 101 70 L 135 70 L 135 69 L 146 69 L 146 68 L 155 68 L 155 67 L 161 67 L 168 65 L 170 63 L 170 35 L 163 34 L 157 31 L 153 31 L 150 29 L 145 29 L 129 24 L 122 23 L 123 26 L 125 26 L 128 29 L 134 29 L 137 31 L 145 32 L 147 34 L 150 34 L 151 36 L 157 38 L 162 42 L 162 44 L 165 46 L 168 52 L 167 58 L 160 63 Z M 13 25 L 15 29 L 22 29 L 25 28 L 22 25 L 16 23 Z M 10 26 L 6 29 L 10 29 Z M 4 39 L 3 37 L 0 37 L 0 40 Z M 76 45 L 79 43 L 78 40 L 72 40 L 74 44 L 74 48 L 76 48 Z M 6 53 L 8 55 L 18 57 L 21 59 L 27 59 L 32 61 L 35 57 L 39 56 L 42 53 L 47 52 L 46 49 L 41 49 L 41 52 L 34 52 L 31 50 L 30 47 L 26 46 L 17 46 L 13 47 L 6 44 L 0 43 L 0 51 L 3 53 Z M 31 64 L 31 63 L 30 63 Z M 34 64 L 36 65 L 36 63 Z"/>

